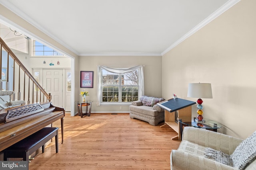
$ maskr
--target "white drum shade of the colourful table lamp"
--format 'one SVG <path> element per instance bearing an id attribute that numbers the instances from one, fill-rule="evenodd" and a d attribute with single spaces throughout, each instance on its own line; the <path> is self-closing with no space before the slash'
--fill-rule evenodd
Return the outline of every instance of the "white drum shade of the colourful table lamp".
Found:
<path id="1" fill-rule="evenodd" d="M 190 98 L 212 98 L 212 86 L 210 83 L 188 84 L 188 97 Z"/>

